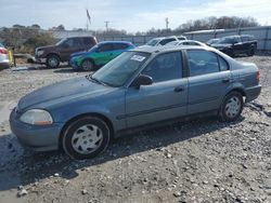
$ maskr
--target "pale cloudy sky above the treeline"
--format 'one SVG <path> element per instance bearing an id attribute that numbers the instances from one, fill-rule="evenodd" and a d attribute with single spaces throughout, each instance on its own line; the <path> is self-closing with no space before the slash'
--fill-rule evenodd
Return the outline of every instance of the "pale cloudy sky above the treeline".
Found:
<path id="1" fill-rule="evenodd" d="M 271 25 L 271 0 L 0 0 L 0 27 L 86 28 L 86 9 L 94 30 L 105 29 L 106 21 L 109 28 L 136 32 L 163 29 L 166 17 L 175 29 L 190 19 L 233 15 Z"/>

